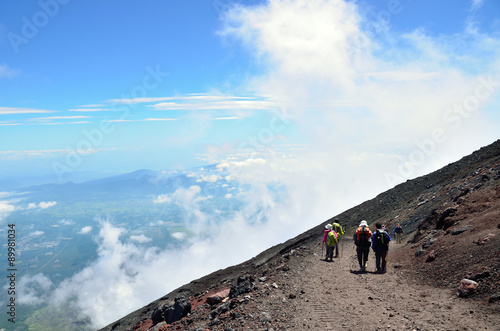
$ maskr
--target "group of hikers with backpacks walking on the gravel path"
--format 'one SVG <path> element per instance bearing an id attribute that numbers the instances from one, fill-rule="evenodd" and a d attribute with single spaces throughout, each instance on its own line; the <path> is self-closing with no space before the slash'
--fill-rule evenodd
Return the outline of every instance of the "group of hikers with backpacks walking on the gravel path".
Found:
<path id="1" fill-rule="evenodd" d="M 403 228 L 398 224 L 392 231 L 396 238 L 396 243 L 400 244 L 403 236 Z M 343 227 L 335 219 L 332 224 L 327 224 L 323 232 L 323 246 L 326 246 L 325 261 L 333 261 L 334 257 L 339 256 L 339 242 L 344 236 Z M 366 262 L 370 248 L 375 252 L 375 263 L 377 273 L 385 273 L 387 266 L 387 253 L 389 251 L 389 242 L 391 236 L 385 225 L 380 222 L 375 224 L 375 231 L 371 232 L 368 223 L 363 220 L 353 235 L 356 253 L 359 262 L 359 271 L 366 271 Z M 335 256 L 334 256 L 335 253 Z"/>

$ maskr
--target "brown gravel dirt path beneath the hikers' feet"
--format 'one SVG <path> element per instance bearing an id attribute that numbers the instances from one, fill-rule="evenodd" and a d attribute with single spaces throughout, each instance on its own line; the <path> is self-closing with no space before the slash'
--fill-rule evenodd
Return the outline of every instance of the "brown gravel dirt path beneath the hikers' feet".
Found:
<path id="1" fill-rule="evenodd" d="M 393 244 L 391 249 L 397 249 Z M 395 246 L 395 247 L 394 247 Z M 322 260 L 321 246 L 298 265 L 295 286 L 302 295 L 290 301 L 303 330 L 500 330 L 491 307 L 460 299 L 448 289 L 412 282 L 405 266 L 390 260 L 386 274 L 375 274 L 370 252 L 367 272 L 358 273 L 352 241 L 341 258 Z"/>

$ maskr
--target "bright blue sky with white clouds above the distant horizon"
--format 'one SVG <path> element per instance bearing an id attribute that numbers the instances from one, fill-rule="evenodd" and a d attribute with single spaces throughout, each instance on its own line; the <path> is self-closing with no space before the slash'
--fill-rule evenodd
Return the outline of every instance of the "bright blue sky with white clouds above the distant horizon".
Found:
<path id="1" fill-rule="evenodd" d="M 309 146 L 388 153 L 401 163 L 479 77 L 498 81 L 500 4 L 492 0 L 0 7 L 3 179 L 187 168 L 239 154 L 252 139 L 258 153 Z M 448 116 L 460 126 L 453 133 L 491 127 L 466 144 L 465 136 L 447 139 L 443 149 L 456 152 L 432 150 L 438 160 L 410 176 L 492 142 L 497 92 L 472 105 L 476 119 Z M 436 109 L 409 107 L 405 93 Z M 283 127 L 277 114 L 288 119 Z"/>

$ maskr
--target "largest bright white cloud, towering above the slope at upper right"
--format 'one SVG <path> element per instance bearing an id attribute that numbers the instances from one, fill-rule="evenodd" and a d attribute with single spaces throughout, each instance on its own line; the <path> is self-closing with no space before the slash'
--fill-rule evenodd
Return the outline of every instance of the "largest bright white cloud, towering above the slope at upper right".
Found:
<path id="1" fill-rule="evenodd" d="M 235 6 L 224 22 L 221 34 L 263 63 L 265 74 L 250 87 L 278 100 L 288 116 L 285 126 L 304 133 L 311 148 L 297 155 L 304 166 L 308 161 L 311 169 L 304 171 L 316 174 L 315 180 L 322 175 L 332 187 L 359 190 L 355 171 L 362 171 L 368 179 L 363 191 L 369 188 L 371 195 L 395 184 L 388 173 L 399 181 L 428 173 L 498 136 L 498 123 L 485 111 L 499 104 L 500 42 L 493 36 L 467 30 L 437 37 L 418 29 L 396 34 L 389 26 L 366 31 L 370 22 L 356 3 L 342 0 Z M 491 91 L 481 87 L 489 75 Z M 482 100 L 476 96 L 480 88 Z M 264 131 L 279 134 L 271 126 Z M 422 149 L 424 143 L 430 148 Z M 249 147 L 273 146 L 260 139 Z"/>

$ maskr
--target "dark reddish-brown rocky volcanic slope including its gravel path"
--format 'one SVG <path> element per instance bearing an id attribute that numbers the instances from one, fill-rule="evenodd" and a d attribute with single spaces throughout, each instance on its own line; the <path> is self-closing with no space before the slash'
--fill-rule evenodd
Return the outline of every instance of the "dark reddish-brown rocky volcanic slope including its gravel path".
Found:
<path id="1" fill-rule="evenodd" d="M 102 330 L 498 330 L 500 140 L 334 218 L 346 225 L 334 262 L 320 242 L 330 219 Z M 362 219 L 405 230 L 385 274 L 373 253 L 356 271 Z M 477 288 L 458 296 L 464 278 Z"/>

